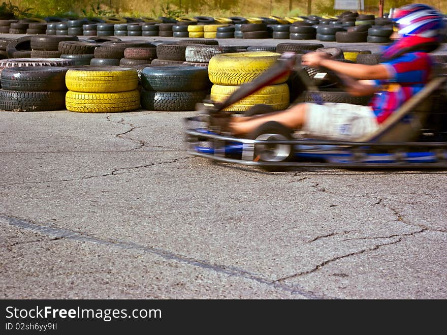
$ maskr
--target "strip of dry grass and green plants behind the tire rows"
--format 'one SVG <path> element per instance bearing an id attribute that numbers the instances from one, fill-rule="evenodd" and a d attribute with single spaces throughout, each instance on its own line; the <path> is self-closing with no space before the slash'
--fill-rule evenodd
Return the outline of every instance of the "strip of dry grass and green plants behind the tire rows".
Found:
<path id="1" fill-rule="evenodd" d="M 364 0 L 362 14 L 378 15 L 379 0 Z M 385 0 L 384 12 L 408 3 L 423 2 L 447 13 L 445 0 Z M 300 16 L 338 15 L 334 0 L 10 0 L 0 7 L 2 13 L 15 16 Z M 310 13 L 308 13 L 310 8 Z M 9 15 L 9 14 L 5 14 Z"/>

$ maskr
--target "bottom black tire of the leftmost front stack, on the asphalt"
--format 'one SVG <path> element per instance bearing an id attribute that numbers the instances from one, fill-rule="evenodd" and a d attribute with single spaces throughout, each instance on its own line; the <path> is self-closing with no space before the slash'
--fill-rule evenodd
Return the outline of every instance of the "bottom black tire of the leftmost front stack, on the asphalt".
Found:
<path id="1" fill-rule="evenodd" d="M 0 89 L 0 109 L 16 112 L 65 108 L 65 91 L 28 92 Z"/>

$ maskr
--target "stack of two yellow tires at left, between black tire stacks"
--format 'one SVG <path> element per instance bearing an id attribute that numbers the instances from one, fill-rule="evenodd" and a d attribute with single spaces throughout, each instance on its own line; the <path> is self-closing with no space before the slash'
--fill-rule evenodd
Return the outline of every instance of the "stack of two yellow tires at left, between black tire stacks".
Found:
<path id="1" fill-rule="evenodd" d="M 140 108 L 138 74 L 131 68 L 72 68 L 67 71 L 66 85 L 69 111 L 114 113 Z"/>

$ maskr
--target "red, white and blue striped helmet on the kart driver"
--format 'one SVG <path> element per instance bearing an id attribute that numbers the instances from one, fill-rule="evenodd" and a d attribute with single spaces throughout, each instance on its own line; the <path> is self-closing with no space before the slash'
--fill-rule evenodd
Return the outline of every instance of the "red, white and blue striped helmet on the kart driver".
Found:
<path id="1" fill-rule="evenodd" d="M 396 9 L 391 18 L 398 27 L 399 39 L 385 49 L 382 58 L 392 59 L 410 51 L 431 52 L 442 42 L 443 15 L 425 4 Z"/>

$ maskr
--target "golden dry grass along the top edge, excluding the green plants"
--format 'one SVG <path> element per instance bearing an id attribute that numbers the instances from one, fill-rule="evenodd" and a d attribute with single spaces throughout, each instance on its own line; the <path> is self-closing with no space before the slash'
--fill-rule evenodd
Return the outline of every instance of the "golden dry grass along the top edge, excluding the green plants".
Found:
<path id="1" fill-rule="evenodd" d="M 0 0 L 6 1 L 8 0 Z M 189 7 L 194 6 L 194 4 L 200 4 L 202 1 L 202 6 L 200 9 L 189 9 Z M 214 0 L 215 2 L 220 2 L 223 6 L 229 3 L 234 3 L 230 9 L 222 10 L 213 7 L 208 4 L 213 4 L 213 0 L 75 0 L 74 2 L 65 2 L 60 0 L 11 0 L 13 5 L 17 5 L 21 8 L 30 7 L 32 4 L 34 8 L 45 9 L 48 13 L 41 13 L 46 16 L 54 15 L 51 13 L 54 10 L 54 6 L 50 6 L 50 3 L 63 4 L 60 9 L 65 10 L 68 7 L 70 9 L 82 15 L 82 10 L 90 11 L 90 5 L 94 7 L 98 3 L 101 3 L 101 8 L 104 10 L 116 11 L 120 16 L 131 16 L 131 17 L 158 17 L 158 16 L 169 16 L 166 11 L 166 5 L 170 4 L 171 10 L 181 10 L 185 16 L 212 16 L 212 17 L 229 17 L 229 16 L 244 16 L 244 17 L 260 17 L 260 16 L 299 16 L 307 15 L 307 1 L 308 0 Z M 313 15 L 334 15 L 340 13 L 341 11 L 335 12 L 332 9 L 334 0 L 311 0 Z M 390 6 L 401 6 L 407 3 L 420 3 L 421 0 L 386 0 L 385 1 L 385 12 L 389 11 Z M 423 3 L 431 5 L 438 8 L 440 11 L 447 12 L 447 1 L 446 0 L 424 0 Z M 181 4 L 181 6 L 180 6 Z M 291 7 L 292 5 L 292 7 Z M 374 14 L 378 15 L 378 0 L 365 0 L 366 10 L 363 14 Z M 222 6 L 221 6 L 222 7 Z M 228 6 L 227 6 L 228 7 Z M 165 10 L 164 10 L 165 9 Z"/>

